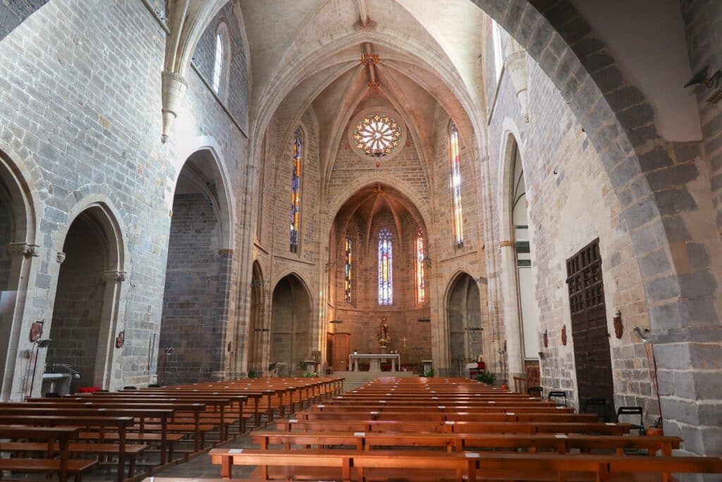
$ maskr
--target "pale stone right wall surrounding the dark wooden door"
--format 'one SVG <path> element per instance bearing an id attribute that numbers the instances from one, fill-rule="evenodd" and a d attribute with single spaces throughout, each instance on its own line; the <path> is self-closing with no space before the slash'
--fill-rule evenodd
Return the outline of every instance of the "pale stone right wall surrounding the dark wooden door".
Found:
<path id="1" fill-rule="evenodd" d="M 529 114 L 526 123 L 516 89 L 507 73 L 496 92 L 490 124 L 492 185 L 497 199 L 494 209 L 508 209 L 504 176 L 508 159 L 508 136 L 520 146 L 529 202 L 532 269 L 539 310 L 541 383 L 545 390 L 565 390 L 573 405 L 577 400 L 573 332 L 565 261 L 586 244 L 599 238 L 606 296 L 606 314 L 614 373 L 615 403 L 642 405 L 647 423 L 658 412 L 643 347 L 630 338 L 633 327 L 648 327 L 648 313 L 641 275 L 625 223 L 619 219 L 619 201 L 609 186 L 599 154 L 591 147 L 577 119 L 560 92 L 539 66 L 527 59 Z M 487 74 L 492 65 L 487 65 Z M 511 160 L 513 162 L 513 160 Z M 593 213 L 593 214 L 592 214 Z M 498 214 L 493 215 L 499 218 Z M 503 229 L 497 231 L 497 236 Z M 498 241 L 503 241 L 498 239 Z M 497 242 L 498 242 L 497 241 Z M 502 247 L 495 249 L 513 249 Z M 513 266 L 508 267 L 513 270 Z M 504 268 L 502 267 L 502 270 Z M 513 293 L 516 296 L 516 293 Z M 516 306 L 516 301 L 511 304 Z M 507 305 L 508 306 L 508 305 Z M 621 311 L 625 333 L 614 337 L 612 317 Z M 561 340 L 567 327 L 567 344 Z M 541 340 L 546 331 L 549 348 Z M 512 340 L 508 340 L 512 343 Z"/>

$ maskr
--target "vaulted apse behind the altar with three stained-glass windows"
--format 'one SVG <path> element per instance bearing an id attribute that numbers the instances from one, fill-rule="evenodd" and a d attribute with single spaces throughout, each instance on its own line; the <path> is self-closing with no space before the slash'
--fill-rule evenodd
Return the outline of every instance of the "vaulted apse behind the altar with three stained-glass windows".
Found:
<path id="1" fill-rule="evenodd" d="M 349 334 L 351 351 L 379 353 L 377 332 L 385 318 L 387 349 L 399 353 L 402 369 L 419 371 L 432 344 L 429 324 L 418 321 L 430 317 L 430 268 L 417 207 L 391 186 L 369 184 L 337 212 L 329 241 L 331 316 L 341 322 L 331 330 Z"/>

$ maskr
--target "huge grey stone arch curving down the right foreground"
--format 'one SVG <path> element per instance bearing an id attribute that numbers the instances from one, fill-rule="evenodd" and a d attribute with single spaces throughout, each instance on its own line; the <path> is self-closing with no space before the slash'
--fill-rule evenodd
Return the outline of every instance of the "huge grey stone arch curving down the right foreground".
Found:
<path id="1" fill-rule="evenodd" d="M 684 279 L 676 273 L 669 236 L 680 242 L 691 241 L 691 236 L 683 215 L 676 210 L 663 212 L 661 206 L 669 205 L 664 201 L 671 195 L 668 189 L 677 181 L 656 181 L 654 189 L 649 183 L 652 171 L 658 179 L 674 168 L 673 156 L 677 152 L 670 155 L 670 146 L 656 131 L 653 108 L 619 71 L 605 43 L 568 0 L 473 1 L 531 55 L 560 90 L 599 152 L 622 205 L 620 218 L 630 230 L 638 257 L 647 254 L 648 246 L 653 245 L 657 246 L 655 252 L 666 258 L 670 267 L 666 276 L 655 275 L 654 280 L 645 277 L 645 295 L 653 306 L 652 324 L 660 330 L 682 326 L 679 306 L 674 308 L 684 302 L 682 293 L 697 298 L 700 313 L 701 304 L 714 311 L 713 300 L 700 293 L 704 290 L 699 283 L 695 285 L 700 276 L 710 277 L 711 273 L 700 270 Z M 682 189 L 686 193 L 686 188 Z M 662 215 L 670 214 L 674 218 L 662 219 Z"/>

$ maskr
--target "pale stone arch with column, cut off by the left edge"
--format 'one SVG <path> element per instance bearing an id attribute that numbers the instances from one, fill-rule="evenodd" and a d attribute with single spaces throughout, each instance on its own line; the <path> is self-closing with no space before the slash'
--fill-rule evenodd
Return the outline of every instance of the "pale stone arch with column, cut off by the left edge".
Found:
<path id="1" fill-rule="evenodd" d="M 14 150 L 0 145 L 0 400 L 12 397 L 23 331 L 28 280 L 34 257 L 37 216 L 30 173 Z M 47 337 L 47 332 L 45 332 Z M 17 392 L 17 390 L 16 390 Z"/>

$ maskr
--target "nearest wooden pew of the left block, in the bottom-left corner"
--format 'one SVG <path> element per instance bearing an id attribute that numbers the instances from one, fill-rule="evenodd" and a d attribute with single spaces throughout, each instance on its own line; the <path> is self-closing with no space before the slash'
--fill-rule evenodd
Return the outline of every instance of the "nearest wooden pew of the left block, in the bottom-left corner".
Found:
<path id="1" fill-rule="evenodd" d="M 69 427 L 29 427 L 21 425 L 0 425 L 0 439 L 26 439 L 45 442 L 50 456 L 47 459 L 0 458 L 0 473 L 3 470 L 14 472 L 57 472 L 58 480 L 66 482 L 68 474 L 74 475 L 77 482 L 82 472 L 95 465 L 95 460 L 69 460 L 71 440 L 77 440 L 78 429 Z M 52 458 L 55 448 L 59 447 L 60 458 Z"/>

